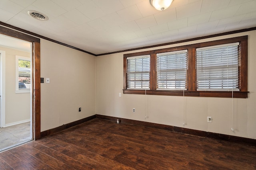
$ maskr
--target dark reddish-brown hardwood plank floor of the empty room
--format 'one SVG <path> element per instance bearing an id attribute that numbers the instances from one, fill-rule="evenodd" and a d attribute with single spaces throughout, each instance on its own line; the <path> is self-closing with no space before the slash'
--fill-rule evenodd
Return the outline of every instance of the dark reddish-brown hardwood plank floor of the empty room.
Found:
<path id="1" fill-rule="evenodd" d="M 0 153 L 1 170 L 253 170 L 256 147 L 93 119 Z"/>

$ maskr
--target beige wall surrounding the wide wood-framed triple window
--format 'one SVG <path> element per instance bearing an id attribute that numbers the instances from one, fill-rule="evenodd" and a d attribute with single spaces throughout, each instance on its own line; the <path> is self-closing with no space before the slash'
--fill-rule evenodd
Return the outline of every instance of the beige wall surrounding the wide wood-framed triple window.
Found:
<path id="1" fill-rule="evenodd" d="M 118 97 L 118 93 L 123 89 L 124 53 L 116 53 L 96 57 L 96 114 L 256 139 L 256 31 L 126 53 L 242 35 L 248 35 L 248 91 L 250 93 L 247 99 L 232 101 L 231 98 L 184 98 L 135 94 L 122 94 L 122 97 Z M 232 102 L 234 115 L 232 115 Z M 136 113 L 132 113 L 132 108 L 136 108 Z M 207 116 L 212 116 L 212 123 L 207 123 Z M 234 117 L 234 131 L 231 130 L 232 117 Z M 185 125 L 182 124 L 184 120 Z"/>

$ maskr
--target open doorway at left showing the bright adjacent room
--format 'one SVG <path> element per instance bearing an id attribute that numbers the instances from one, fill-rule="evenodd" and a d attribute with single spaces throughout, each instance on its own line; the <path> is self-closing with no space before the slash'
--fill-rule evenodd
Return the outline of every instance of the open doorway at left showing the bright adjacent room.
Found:
<path id="1" fill-rule="evenodd" d="M 32 43 L 0 35 L 0 151 L 32 140 L 31 58 Z"/>

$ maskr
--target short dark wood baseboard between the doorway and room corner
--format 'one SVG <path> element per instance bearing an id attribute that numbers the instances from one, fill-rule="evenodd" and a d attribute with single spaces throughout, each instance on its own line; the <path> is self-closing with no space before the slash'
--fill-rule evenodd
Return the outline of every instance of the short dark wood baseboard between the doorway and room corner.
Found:
<path id="1" fill-rule="evenodd" d="M 86 117 L 84 119 L 80 119 L 80 120 L 77 120 L 77 121 L 73 121 L 73 122 L 70 122 L 70 123 L 67 123 L 67 124 L 64 124 L 62 126 L 59 126 L 59 127 L 55 127 L 53 129 L 48 129 L 46 131 L 42 131 L 41 132 L 41 138 L 43 137 L 47 137 L 47 136 L 50 136 L 50 135 L 53 135 L 54 133 L 57 133 L 57 132 L 60 132 L 60 131 L 63 131 L 65 129 L 68 129 L 70 127 L 73 127 L 73 126 L 76 126 L 76 125 L 79 125 L 81 123 L 84 123 L 86 121 L 89 121 L 89 120 L 92 120 L 92 119 L 95 119 L 96 118 L 96 115 L 92 115 L 90 117 Z"/>

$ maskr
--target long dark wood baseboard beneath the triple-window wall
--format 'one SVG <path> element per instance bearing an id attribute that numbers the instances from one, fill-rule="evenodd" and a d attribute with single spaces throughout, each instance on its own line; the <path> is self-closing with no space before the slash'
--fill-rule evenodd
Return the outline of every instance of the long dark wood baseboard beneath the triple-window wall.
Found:
<path id="1" fill-rule="evenodd" d="M 96 118 L 107 119 L 107 120 L 111 120 L 111 121 L 116 121 L 116 119 L 119 119 L 119 122 L 124 123 L 124 124 L 155 127 L 158 129 L 165 129 L 165 130 L 182 133 L 182 134 L 195 135 L 195 136 L 199 136 L 199 137 L 206 137 L 206 138 L 211 138 L 211 139 L 216 139 L 216 140 L 221 140 L 221 141 L 228 141 L 228 142 L 233 142 L 233 143 L 240 143 L 240 144 L 245 144 L 245 145 L 250 145 L 250 146 L 256 147 L 256 139 L 224 135 L 224 134 L 220 134 L 220 133 L 199 131 L 199 130 L 188 129 L 188 128 L 183 128 L 183 127 L 175 127 L 175 126 L 170 126 L 170 125 L 162 125 L 162 124 L 157 124 L 157 123 L 150 123 L 150 122 L 137 121 L 137 120 L 124 119 L 124 118 L 119 118 L 119 117 L 112 117 L 112 116 L 105 116 L 105 115 L 98 115 L 98 114 L 96 115 Z"/>

